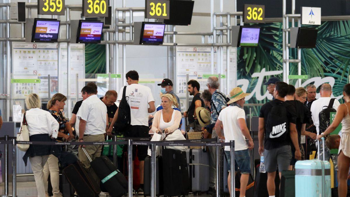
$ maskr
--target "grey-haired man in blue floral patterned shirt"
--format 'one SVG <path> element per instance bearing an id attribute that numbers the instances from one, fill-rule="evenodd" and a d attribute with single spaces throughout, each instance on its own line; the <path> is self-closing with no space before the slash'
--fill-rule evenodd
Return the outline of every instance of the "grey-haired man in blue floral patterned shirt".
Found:
<path id="1" fill-rule="evenodd" d="M 209 92 L 211 93 L 211 102 L 210 102 L 210 108 L 211 108 L 211 117 L 210 117 L 210 125 L 213 128 L 215 126 L 216 121 L 218 120 L 219 114 L 222 109 L 227 107 L 227 102 L 230 101 L 228 97 L 225 96 L 224 93 L 218 90 L 220 84 L 219 79 L 216 76 L 211 76 L 208 78 L 207 87 L 209 89 Z M 208 125 L 209 126 L 209 125 Z M 211 138 L 216 138 L 217 134 L 215 129 L 212 129 L 212 132 L 210 132 L 210 129 L 207 131 L 204 131 L 204 138 L 207 138 L 209 133 L 211 133 Z M 209 131 L 209 133 L 208 133 Z M 215 177 L 216 177 L 216 147 L 209 147 L 209 193 L 211 195 L 215 195 Z M 218 188 L 216 188 L 218 189 Z"/>

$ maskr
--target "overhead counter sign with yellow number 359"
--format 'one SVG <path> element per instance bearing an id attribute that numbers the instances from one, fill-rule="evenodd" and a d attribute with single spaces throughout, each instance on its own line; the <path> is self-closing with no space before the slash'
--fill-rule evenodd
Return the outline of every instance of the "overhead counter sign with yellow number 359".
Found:
<path id="1" fill-rule="evenodd" d="M 64 15 L 64 0 L 38 0 L 38 14 Z"/>

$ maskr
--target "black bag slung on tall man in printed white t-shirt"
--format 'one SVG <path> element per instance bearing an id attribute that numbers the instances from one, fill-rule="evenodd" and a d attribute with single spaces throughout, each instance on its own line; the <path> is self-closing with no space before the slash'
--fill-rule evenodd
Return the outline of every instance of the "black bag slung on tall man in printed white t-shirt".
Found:
<path id="1" fill-rule="evenodd" d="M 118 118 L 113 125 L 114 130 L 117 131 L 117 133 L 122 133 L 122 134 L 125 134 L 126 131 L 128 131 L 128 128 L 131 124 L 130 106 L 126 100 L 126 97 L 128 99 L 129 97 L 125 96 L 125 92 L 126 92 L 126 86 L 124 86 L 123 97 L 121 98 L 121 101 L 119 103 Z"/>

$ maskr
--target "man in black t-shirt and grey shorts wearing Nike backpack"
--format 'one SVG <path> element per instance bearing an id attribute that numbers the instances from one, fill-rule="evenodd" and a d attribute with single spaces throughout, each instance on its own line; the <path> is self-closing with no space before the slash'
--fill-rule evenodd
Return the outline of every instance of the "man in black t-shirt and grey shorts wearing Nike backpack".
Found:
<path id="1" fill-rule="evenodd" d="M 284 97 L 288 93 L 288 84 L 285 82 L 276 83 L 274 90 L 274 98 L 261 107 L 259 115 L 259 154 L 264 154 L 264 163 L 267 172 L 267 190 L 269 196 L 275 195 L 275 176 L 278 165 L 279 176 L 281 177 L 282 170 L 288 170 L 290 160 L 292 159 L 290 143 L 296 149 L 295 158 L 300 159 L 301 153 L 298 144 L 298 134 L 296 130 L 296 115 L 295 109 L 290 104 L 284 102 Z M 287 117 L 277 117 L 280 120 L 287 120 L 280 125 L 275 125 L 271 128 L 270 124 L 273 124 L 273 120 L 269 118 L 276 117 L 276 114 L 271 114 L 272 110 L 283 109 Z M 276 111 L 274 111 L 276 112 Z M 281 112 L 280 112 L 281 113 Z M 274 116 L 273 116 L 274 115 Z M 280 115 L 281 116 L 281 115 Z M 266 128 L 266 129 L 265 129 Z M 264 143 L 264 135 L 265 143 Z M 284 137 L 283 140 L 279 140 L 280 137 Z"/>

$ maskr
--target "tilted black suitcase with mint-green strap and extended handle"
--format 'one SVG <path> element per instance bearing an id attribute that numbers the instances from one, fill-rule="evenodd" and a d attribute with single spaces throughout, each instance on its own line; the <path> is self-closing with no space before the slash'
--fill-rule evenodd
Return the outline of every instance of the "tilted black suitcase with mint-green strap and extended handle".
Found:
<path id="1" fill-rule="evenodd" d="M 85 148 L 82 148 L 87 158 L 91 161 Z M 120 197 L 126 194 L 128 182 L 125 176 L 117 169 L 113 162 L 106 156 L 97 157 L 90 163 L 91 168 L 101 179 L 104 188 L 112 197 Z"/>

